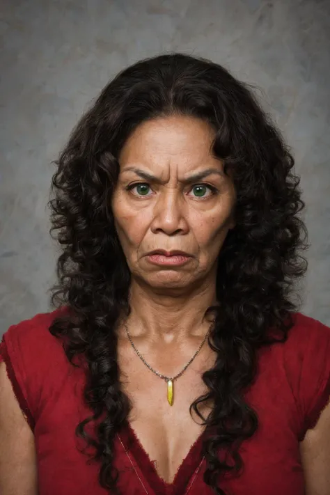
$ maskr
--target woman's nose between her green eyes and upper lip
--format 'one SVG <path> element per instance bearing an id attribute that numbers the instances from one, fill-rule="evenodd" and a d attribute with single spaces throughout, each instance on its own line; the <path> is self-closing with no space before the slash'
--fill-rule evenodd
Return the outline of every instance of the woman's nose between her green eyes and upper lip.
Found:
<path id="1" fill-rule="evenodd" d="M 163 232 L 166 235 L 184 235 L 189 232 L 186 204 L 180 191 L 168 189 L 157 198 L 151 224 L 152 233 Z"/>

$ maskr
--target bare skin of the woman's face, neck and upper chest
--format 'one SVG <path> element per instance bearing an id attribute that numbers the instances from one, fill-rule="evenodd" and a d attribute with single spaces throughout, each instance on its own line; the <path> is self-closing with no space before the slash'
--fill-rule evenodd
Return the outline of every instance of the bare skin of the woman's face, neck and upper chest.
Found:
<path id="1" fill-rule="evenodd" d="M 132 313 L 127 326 L 150 366 L 164 375 L 175 375 L 184 367 L 210 327 L 204 313 L 215 301 L 217 256 L 228 230 L 235 226 L 235 189 L 223 173 L 223 164 L 212 156 L 212 139 L 212 129 L 200 120 L 159 118 L 140 125 L 120 155 L 112 208 L 132 272 Z M 155 175 L 159 181 L 147 182 L 132 168 Z M 210 168 L 214 172 L 203 180 L 184 183 Z M 149 188 L 136 187 L 139 182 Z M 207 185 L 203 197 L 197 196 L 201 194 L 198 184 Z M 133 189 L 127 190 L 130 186 Z M 180 249 L 191 259 L 182 267 L 151 265 L 146 254 L 154 249 Z M 123 325 L 118 336 L 118 361 L 125 370 L 123 387 L 133 401 L 131 425 L 155 459 L 159 475 L 172 481 L 201 433 L 189 405 L 205 391 L 201 374 L 212 366 L 215 356 L 205 343 L 174 382 L 170 407 L 166 383 L 134 354 Z"/>

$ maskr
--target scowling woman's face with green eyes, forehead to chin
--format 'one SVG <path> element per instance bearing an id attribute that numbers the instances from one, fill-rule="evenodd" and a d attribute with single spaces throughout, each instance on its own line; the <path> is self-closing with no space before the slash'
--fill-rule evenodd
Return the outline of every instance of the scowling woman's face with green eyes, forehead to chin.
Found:
<path id="1" fill-rule="evenodd" d="M 116 230 L 132 277 L 152 288 L 214 280 L 217 256 L 235 226 L 235 189 L 211 154 L 213 138 L 202 120 L 157 118 L 139 125 L 120 153 Z M 150 255 L 158 250 L 187 256 Z"/>

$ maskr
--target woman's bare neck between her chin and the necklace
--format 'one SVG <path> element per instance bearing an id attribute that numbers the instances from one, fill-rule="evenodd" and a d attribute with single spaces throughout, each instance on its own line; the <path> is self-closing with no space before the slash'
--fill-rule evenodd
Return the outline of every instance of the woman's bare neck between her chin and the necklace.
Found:
<path id="1" fill-rule="evenodd" d="M 213 315 L 205 311 L 216 303 L 215 284 L 185 294 L 156 292 L 132 281 L 129 290 L 131 313 L 126 323 L 132 336 L 154 343 L 174 343 L 191 337 L 203 337 Z"/>

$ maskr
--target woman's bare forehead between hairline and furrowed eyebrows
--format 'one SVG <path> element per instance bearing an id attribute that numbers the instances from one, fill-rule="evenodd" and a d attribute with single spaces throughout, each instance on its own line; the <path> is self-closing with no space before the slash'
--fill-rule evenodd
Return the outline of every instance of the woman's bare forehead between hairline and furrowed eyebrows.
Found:
<path id="1" fill-rule="evenodd" d="M 120 152 L 120 168 L 146 166 L 209 166 L 219 160 L 212 156 L 214 131 L 203 120 L 169 116 L 141 123 Z"/>

